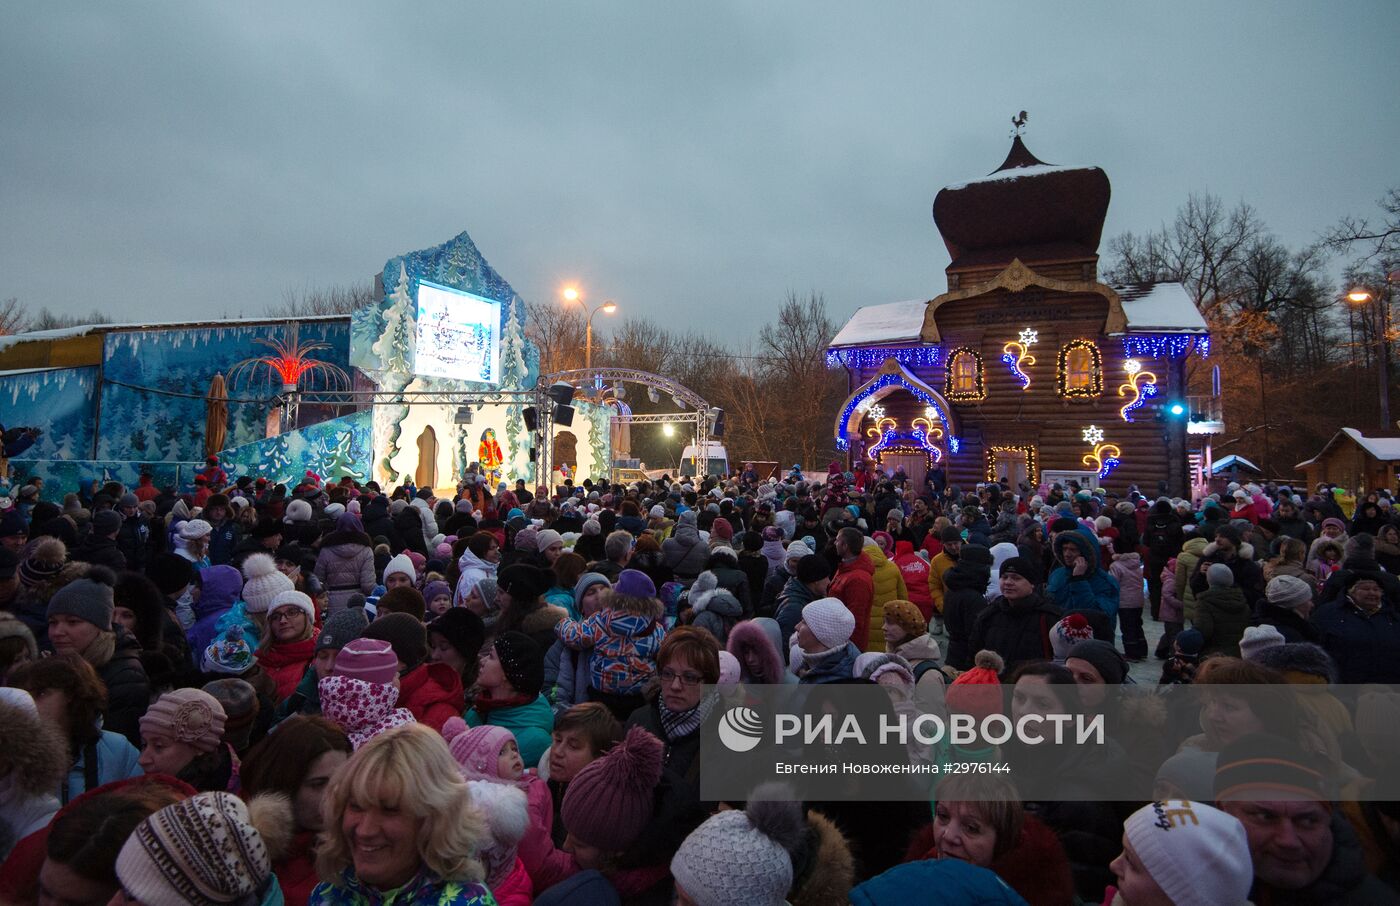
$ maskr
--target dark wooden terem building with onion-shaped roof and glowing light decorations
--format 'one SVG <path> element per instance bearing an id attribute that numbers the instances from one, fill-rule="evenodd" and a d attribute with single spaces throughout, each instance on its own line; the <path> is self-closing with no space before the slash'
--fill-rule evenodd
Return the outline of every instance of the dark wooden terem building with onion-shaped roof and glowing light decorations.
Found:
<path id="1" fill-rule="evenodd" d="M 952 263 L 931 300 L 861 308 L 832 340 L 846 368 L 839 448 L 963 489 L 1077 478 L 1189 492 L 1184 363 L 1210 354 L 1179 283 L 1099 281 L 1109 178 L 1036 160 L 1016 136 L 991 175 L 942 189 Z"/>

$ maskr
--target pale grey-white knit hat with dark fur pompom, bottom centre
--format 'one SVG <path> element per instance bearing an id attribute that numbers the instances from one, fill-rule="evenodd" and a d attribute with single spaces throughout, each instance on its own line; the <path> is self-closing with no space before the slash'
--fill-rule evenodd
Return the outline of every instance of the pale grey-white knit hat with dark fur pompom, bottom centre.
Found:
<path id="1" fill-rule="evenodd" d="M 743 811 L 718 812 L 690 832 L 671 874 L 696 906 L 783 906 L 792 856 L 806 832 L 791 788 L 764 784 Z"/>

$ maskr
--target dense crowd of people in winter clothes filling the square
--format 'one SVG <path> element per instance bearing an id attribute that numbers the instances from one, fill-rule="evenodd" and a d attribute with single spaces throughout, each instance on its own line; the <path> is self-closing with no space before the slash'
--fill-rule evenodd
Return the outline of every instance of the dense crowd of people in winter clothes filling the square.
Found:
<path id="1" fill-rule="evenodd" d="M 1400 903 L 1387 492 L 55 490 L 0 487 L 0 903 Z M 701 797 L 718 704 L 834 683 L 1156 707 L 903 802 Z"/>

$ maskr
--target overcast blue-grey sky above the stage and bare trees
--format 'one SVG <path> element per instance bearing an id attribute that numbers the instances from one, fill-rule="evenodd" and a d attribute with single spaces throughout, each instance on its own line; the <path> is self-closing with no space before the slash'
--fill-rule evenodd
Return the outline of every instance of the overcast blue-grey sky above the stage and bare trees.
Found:
<path id="1" fill-rule="evenodd" d="M 746 339 L 945 288 L 930 207 L 1009 118 L 1289 244 L 1400 183 L 1396 0 L 0 7 L 0 298 L 260 314 L 461 230 L 525 298 Z"/>

